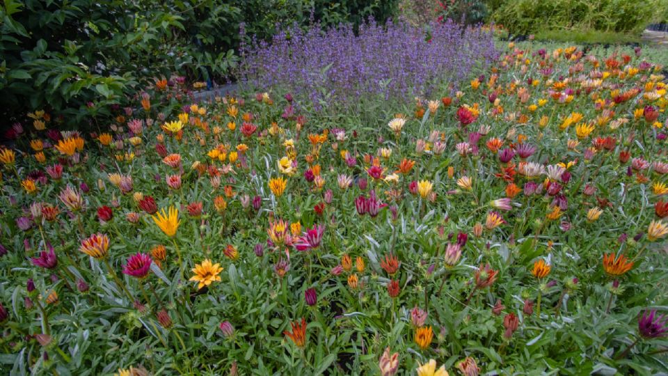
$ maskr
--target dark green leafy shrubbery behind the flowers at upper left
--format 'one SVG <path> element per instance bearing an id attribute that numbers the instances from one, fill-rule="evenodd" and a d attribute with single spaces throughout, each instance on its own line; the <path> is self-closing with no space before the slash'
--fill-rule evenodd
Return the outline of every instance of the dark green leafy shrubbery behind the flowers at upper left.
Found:
<path id="1" fill-rule="evenodd" d="M 111 104 L 125 106 L 155 79 L 228 79 L 242 21 L 267 38 L 277 22 L 305 25 L 311 15 L 323 24 L 387 19 L 395 3 L 6 0 L 0 7 L 1 114 L 17 121 L 46 109 L 85 126 L 92 102 L 98 123 L 106 123 Z"/>

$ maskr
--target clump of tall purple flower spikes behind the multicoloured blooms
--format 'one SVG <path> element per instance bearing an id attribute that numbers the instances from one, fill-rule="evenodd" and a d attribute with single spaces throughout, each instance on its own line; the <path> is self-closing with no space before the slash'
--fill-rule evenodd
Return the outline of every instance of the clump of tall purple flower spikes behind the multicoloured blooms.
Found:
<path id="1" fill-rule="evenodd" d="M 429 95 L 468 79 L 495 58 L 491 33 L 453 22 L 431 24 L 429 35 L 404 22 L 370 23 L 307 31 L 292 26 L 267 42 L 242 49 L 240 77 L 250 86 L 276 87 L 305 99 L 305 105 L 355 105 L 367 100 L 403 100 Z"/>

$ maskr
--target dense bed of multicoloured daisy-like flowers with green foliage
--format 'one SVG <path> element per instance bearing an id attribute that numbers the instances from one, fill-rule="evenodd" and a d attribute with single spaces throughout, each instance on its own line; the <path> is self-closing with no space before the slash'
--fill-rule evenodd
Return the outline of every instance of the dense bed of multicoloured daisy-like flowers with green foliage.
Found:
<path id="1" fill-rule="evenodd" d="M 0 150 L 1 369 L 666 371 L 665 77 L 528 48 L 376 124 L 271 91 L 94 134 L 31 113 Z"/>

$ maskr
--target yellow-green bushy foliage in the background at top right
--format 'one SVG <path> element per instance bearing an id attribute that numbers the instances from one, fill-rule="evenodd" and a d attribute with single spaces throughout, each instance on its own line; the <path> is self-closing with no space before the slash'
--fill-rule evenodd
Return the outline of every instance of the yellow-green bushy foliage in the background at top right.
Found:
<path id="1" fill-rule="evenodd" d="M 663 0 L 508 0 L 493 19 L 520 34 L 545 29 L 639 32 L 667 9 Z"/>

